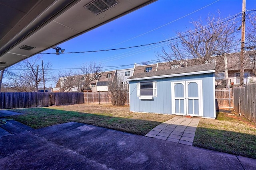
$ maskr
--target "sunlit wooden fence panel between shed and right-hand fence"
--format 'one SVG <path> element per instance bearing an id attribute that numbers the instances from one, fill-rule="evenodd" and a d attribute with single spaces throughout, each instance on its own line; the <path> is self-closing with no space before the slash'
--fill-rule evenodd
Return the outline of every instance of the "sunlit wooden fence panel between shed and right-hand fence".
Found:
<path id="1" fill-rule="evenodd" d="M 215 89 L 216 109 L 233 108 L 233 91 L 232 88 Z"/>

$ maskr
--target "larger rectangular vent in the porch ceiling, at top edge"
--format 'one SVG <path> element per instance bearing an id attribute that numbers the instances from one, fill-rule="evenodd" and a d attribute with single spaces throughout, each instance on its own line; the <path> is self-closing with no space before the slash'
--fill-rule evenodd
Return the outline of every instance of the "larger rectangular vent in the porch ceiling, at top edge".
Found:
<path id="1" fill-rule="evenodd" d="M 118 4 L 116 0 L 94 0 L 84 7 L 95 15 L 98 15 L 116 4 Z"/>

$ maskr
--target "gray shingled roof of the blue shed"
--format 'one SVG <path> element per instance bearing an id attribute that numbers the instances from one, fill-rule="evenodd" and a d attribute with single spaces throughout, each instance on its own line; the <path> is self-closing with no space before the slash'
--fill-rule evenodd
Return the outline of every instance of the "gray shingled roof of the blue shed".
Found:
<path id="1" fill-rule="evenodd" d="M 202 71 L 210 71 L 215 70 L 215 64 L 202 64 L 202 65 L 195 65 L 195 66 L 188 66 L 188 67 L 182 67 L 182 68 L 173 68 L 169 70 L 159 70 L 159 71 L 152 71 L 152 72 L 143 72 L 135 74 L 127 80 L 133 80 L 133 79 L 142 79 L 142 78 L 154 78 L 156 76 L 165 76 L 172 74 L 183 74 L 183 73 L 192 73 L 193 72 L 202 72 Z M 214 72 L 214 71 L 212 71 Z"/>

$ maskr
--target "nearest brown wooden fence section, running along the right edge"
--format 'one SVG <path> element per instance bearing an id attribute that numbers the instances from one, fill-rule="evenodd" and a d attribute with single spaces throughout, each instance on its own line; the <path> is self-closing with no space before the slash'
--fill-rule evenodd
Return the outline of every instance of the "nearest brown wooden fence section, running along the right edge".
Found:
<path id="1" fill-rule="evenodd" d="M 256 123 L 256 83 L 234 87 L 234 110 Z"/>

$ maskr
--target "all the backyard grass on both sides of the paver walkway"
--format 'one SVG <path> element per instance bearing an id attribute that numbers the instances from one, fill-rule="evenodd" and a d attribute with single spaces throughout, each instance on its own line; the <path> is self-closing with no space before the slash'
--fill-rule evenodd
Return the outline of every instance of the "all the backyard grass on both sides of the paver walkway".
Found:
<path id="1" fill-rule="evenodd" d="M 35 129 L 76 121 L 146 135 L 174 115 L 130 113 L 128 106 L 78 104 L 29 109 L 12 109 L 26 115 L 12 116 L 16 121 Z M 256 125 L 227 111 L 217 119 L 200 119 L 193 145 L 206 149 L 256 158 Z"/>

